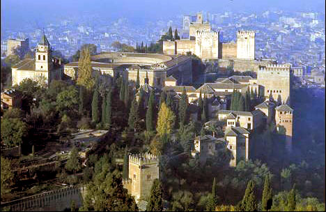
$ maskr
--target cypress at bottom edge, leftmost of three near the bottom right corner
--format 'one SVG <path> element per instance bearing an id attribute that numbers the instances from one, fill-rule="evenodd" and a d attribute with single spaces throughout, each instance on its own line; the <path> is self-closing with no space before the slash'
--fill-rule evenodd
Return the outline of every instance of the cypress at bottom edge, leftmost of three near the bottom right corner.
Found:
<path id="1" fill-rule="evenodd" d="M 257 211 L 257 202 L 254 187 L 254 181 L 250 180 L 241 202 L 241 211 Z"/>

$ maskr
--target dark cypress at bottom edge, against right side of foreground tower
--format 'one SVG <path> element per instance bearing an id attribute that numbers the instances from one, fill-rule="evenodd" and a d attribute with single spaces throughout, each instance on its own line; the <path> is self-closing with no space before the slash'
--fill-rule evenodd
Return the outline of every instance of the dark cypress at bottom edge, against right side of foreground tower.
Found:
<path id="1" fill-rule="evenodd" d="M 163 189 L 159 179 L 155 179 L 150 189 L 150 199 L 146 211 L 163 211 Z"/>

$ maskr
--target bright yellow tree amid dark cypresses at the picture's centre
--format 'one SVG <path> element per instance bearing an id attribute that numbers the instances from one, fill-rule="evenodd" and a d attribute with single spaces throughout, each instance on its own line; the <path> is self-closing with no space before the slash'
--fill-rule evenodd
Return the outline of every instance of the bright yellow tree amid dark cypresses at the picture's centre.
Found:
<path id="1" fill-rule="evenodd" d="M 173 114 L 172 110 L 162 103 L 160 112 L 157 118 L 157 134 L 160 137 L 169 136 L 173 129 L 174 121 L 176 116 Z"/>

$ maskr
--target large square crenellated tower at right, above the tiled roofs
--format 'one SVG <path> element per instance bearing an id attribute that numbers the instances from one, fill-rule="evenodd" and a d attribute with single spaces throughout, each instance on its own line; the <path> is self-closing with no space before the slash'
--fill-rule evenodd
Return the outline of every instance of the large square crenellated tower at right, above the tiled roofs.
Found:
<path id="1" fill-rule="evenodd" d="M 265 100 L 271 96 L 278 105 L 290 104 L 290 65 L 271 64 L 260 68 L 257 84 L 263 86 Z"/>

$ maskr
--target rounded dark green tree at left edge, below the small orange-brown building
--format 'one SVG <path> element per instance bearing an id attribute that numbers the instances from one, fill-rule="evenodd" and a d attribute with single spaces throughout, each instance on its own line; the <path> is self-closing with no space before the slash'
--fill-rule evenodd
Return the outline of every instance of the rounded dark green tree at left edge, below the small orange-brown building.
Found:
<path id="1" fill-rule="evenodd" d="M 27 135 L 27 125 L 20 119 L 1 119 L 1 139 L 9 147 L 22 144 Z"/>

